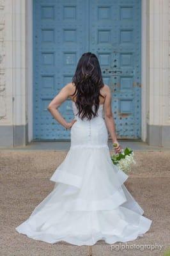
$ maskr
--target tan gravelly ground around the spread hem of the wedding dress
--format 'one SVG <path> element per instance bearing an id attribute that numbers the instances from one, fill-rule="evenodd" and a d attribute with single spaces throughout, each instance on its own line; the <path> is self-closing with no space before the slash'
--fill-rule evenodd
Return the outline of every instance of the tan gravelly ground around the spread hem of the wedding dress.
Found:
<path id="1" fill-rule="evenodd" d="M 89 246 L 74 246 L 65 242 L 48 244 L 19 234 L 15 227 L 29 217 L 36 205 L 49 195 L 54 187 L 50 176 L 65 159 L 65 151 L 0 150 L 0 211 L 2 256 L 63 256 L 88 255 Z M 114 250 L 111 244 L 98 241 L 92 246 L 92 255 L 164 255 L 170 248 L 169 239 L 169 171 L 170 150 L 135 151 L 137 161 L 125 185 L 144 209 L 144 216 L 153 220 L 143 237 L 127 243 L 130 249 Z M 150 250 L 158 244 L 162 250 Z M 114 245 L 122 246 L 123 243 Z M 124 245 L 126 245 L 124 243 Z M 148 249 L 142 251 L 142 246 Z M 141 246 L 141 250 L 134 248 Z M 139 247 L 138 247 L 139 248 Z M 167 255 L 170 255 L 170 250 Z"/>

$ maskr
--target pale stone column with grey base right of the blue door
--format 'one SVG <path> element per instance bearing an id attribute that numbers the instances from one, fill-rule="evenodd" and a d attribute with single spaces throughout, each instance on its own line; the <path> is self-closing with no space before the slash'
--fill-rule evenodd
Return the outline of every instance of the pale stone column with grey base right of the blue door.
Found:
<path id="1" fill-rule="evenodd" d="M 148 0 L 146 9 L 146 123 L 149 145 L 170 146 L 170 0 Z"/>

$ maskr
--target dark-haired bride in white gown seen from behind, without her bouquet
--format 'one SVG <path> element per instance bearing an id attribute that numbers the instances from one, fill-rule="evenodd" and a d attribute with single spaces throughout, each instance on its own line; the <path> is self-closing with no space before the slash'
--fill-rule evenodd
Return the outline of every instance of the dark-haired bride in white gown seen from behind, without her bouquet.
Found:
<path id="1" fill-rule="evenodd" d="M 51 115 L 70 129 L 71 145 L 64 161 L 50 177 L 54 188 L 29 218 L 15 229 L 27 237 L 56 243 L 112 244 L 143 236 L 151 220 L 123 184 L 128 175 L 111 161 L 108 132 L 116 139 L 111 90 L 103 83 L 95 54 L 82 54 L 72 83 L 66 84 L 48 106 Z M 75 118 L 68 123 L 58 107 L 72 100 Z"/>

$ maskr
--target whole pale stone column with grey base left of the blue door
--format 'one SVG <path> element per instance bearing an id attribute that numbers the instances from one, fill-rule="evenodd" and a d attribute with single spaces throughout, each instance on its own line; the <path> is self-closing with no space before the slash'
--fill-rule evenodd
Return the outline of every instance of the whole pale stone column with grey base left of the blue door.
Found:
<path id="1" fill-rule="evenodd" d="M 16 147 L 27 143 L 26 0 L 0 0 L 0 12 L 0 145 Z"/>

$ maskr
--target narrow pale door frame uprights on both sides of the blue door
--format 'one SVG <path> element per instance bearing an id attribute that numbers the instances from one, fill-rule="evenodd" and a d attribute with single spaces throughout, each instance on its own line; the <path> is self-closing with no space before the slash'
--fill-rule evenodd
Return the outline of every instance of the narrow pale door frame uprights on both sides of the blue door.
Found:
<path id="1" fill-rule="evenodd" d="M 33 60 L 34 60 L 34 47 L 33 47 L 33 1 L 26 1 L 26 31 L 27 31 L 27 44 L 26 52 L 28 56 L 27 60 L 27 137 L 28 142 L 33 141 Z M 146 13 L 147 13 L 147 1 L 141 0 L 141 140 L 146 141 L 146 45 L 147 45 L 147 33 L 146 33 Z M 32 54 L 30 54 L 32 52 Z"/>

